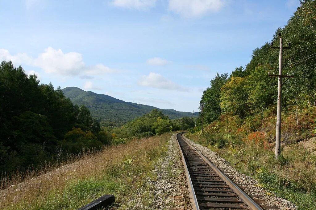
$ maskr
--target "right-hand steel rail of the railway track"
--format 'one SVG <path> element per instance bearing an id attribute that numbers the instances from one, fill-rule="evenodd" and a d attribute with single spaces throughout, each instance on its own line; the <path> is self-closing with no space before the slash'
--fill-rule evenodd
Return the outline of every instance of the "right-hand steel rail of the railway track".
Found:
<path id="1" fill-rule="evenodd" d="M 180 135 L 182 135 L 185 132 L 182 132 Z M 178 138 L 177 138 L 178 139 Z M 221 177 L 227 185 L 241 198 L 242 201 L 244 201 L 248 207 L 250 207 L 252 210 L 264 210 L 262 207 L 260 207 L 254 200 L 252 200 L 243 190 L 240 189 L 231 179 L 229 179 L 218 167 L 216 167 L 208 158 L 206 158 L 201 152 L 199 152 L 194 146 L 192 146 L 189 142 L 185 140 L 185 138 L 182 137 L 182 139 L 193 149 L 196 151 L 196 153 L 201 156 L 207 164 L 218 174 L 219 177 Z M 179 142 L 178 142 L 179 144 Z"/>

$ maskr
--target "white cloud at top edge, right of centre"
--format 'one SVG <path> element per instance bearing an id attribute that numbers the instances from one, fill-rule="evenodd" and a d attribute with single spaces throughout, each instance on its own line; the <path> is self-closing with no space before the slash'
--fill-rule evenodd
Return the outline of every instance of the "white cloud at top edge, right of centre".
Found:
<path id="1" fill-rule="evenodd" d="M 169 0 L 169 10 L 186 17 L 199 17 L 217 12 L 223 0 Z"/>

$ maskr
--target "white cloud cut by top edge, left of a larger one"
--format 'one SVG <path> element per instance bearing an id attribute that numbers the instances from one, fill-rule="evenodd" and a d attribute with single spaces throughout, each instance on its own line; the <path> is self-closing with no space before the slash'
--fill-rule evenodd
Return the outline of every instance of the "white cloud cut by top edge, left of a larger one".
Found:
<path id="1" fill-rule="evenodd" d="M 148 9 L 155 6 L 157 0 L 114 0 L 112 5 L 128 9 Z"/>

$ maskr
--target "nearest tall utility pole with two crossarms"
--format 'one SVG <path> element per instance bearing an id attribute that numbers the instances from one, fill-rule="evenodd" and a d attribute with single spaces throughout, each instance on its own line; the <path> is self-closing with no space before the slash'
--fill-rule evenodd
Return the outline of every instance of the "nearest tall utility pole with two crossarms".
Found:
<path id="1" fill-rule="evenodd" d="M 281 152 L 281 102 L 282 102 L 282 77 L 293 77 L 289 75 L 282 75 L 282 56 L 283 49 L 290 49 L 291 43 L 289 43 L 289 47 L 282 46 L 282 37 L 281 32 L 279 32 L 280 38 L 280 46 L 273 47 L 273 42 L 271 42 L 271 48 L 280 49 L 279 54 L 279 74 L 278 75 L 269 75 L 270 77 L 279 77 L 278 88 L 277 88 L 277 111 L 276 111 L 276 159 L 279 158 Z M 270 74 L 270 72 L 269 72 Z"/>

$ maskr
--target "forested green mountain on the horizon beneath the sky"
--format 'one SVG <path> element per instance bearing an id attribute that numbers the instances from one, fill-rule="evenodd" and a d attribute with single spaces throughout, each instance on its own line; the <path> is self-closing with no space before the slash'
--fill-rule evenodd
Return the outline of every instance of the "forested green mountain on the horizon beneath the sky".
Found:
<path id="1" fill-rule="evenodd" d="M 137 116 L 143 116 L 153 109 L 154 106 L 125 102 L 108 95 L 96 94 L 91 91 L 84 91 L 77 87 L 63 89 L 64 95 L 70 98 L 76 105 L 85 105 L 91 112 L 91 116 L 105 126 L 123 125 Z M 159 109 L 171 119 L 188 116 L 191 112 L 175 111 L 173 109 Z M 198 112 L 194 113 L 195 116 Z"/>

